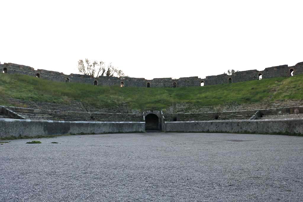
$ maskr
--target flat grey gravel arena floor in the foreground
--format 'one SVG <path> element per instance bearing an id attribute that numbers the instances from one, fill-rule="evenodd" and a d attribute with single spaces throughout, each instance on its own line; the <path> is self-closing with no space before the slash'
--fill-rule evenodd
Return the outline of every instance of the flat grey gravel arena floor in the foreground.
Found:
<path id="1" fill-rule="evenodd" d="M 42 144 L 25 144 L 32 140 Z M 0 201 L 303 201 L 303 137 L 159 132 L 12 140 L 0 144 Z"/>

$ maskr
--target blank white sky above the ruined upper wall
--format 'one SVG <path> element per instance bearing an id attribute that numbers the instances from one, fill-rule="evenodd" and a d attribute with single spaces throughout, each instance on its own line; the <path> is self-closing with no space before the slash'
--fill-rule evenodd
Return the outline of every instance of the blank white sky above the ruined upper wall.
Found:
<path id="1" fill-rule="evenodd" d="M 303 1 L 0 0 L 0 61 L 78 73 L 102 60 L 138 78 L 303 61 Z"/>

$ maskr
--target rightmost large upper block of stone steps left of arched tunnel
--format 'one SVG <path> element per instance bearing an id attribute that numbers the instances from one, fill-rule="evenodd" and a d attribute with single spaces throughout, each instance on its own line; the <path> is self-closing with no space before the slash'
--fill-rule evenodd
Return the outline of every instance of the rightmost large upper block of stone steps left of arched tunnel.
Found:
<path id="1" fill-rule="evenodd" d="M 98 113 L 128 113 L 127 110 L 127 104 L 126 103 L 122 103 L 119 104 L 118 107 L 97 107 L 94 105 L 90 105 L 87 103 L 83 103 L 85 109 L 88 112 L 98 112 Z"/>

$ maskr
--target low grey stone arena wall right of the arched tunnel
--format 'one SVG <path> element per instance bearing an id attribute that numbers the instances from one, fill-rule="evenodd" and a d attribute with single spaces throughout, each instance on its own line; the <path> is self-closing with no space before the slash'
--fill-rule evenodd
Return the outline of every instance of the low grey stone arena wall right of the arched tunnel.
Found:
<path id="1" fill-rule="evenodd" d="M 303 134 L 303 119 L 165 122 L 164 132 Z"/>

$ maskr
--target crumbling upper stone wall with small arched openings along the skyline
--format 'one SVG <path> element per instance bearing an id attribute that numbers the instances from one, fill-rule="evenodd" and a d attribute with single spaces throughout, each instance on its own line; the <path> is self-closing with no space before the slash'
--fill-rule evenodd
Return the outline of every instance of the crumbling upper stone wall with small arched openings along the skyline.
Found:
<path id="1" fill-rule="evenodd" d="M 9 74 L 24 74 L 31 76 L 39 76 L 39 78 L 45 78 L 52 81 L 61 81 L 61 82 L 78 82 L 78 83 L 87 83 L 94 85 L 94 82 L 97 81 L 98 85 L 118 85 L 120 86 L 123 82 L 124 87 L 147 87 L 148 83 L 150 87 L 187 87 L 187 86 L 200 86 L 201 82 L 204 82 L 204 85 L 217 85 L 217 84 L 227 84 L 229 80 L 232 83 L 242 82 L 242 81 L 251 81 L 258 80 L 259 74 L 262 75 L 262 78 L 274 78 L 274 77 L 288 77 L 291 76 L 291 70 L 294 71 L 294 75 L 303 73 L 303 62 L 297 63 L 295 66 L 288 67 L 288 65 L 280 65 L 276 67 L 265 68 L 263 71 L 257 70 L 247 70 L 247 71 L 238 71 L 234 75 L 214 75 L 207 76 L 204 79 L 195 77 L 182 77 L 179 79 L 172 78 L 154 78 L 152 80 L 147 80 L 145 78 L 127 78 L 119 79 L 118 77 L 106 77 L 99 76 L 98 78 L 92 78 L 88 75 L 80 74 L 70 74 L 65 75 L 57 71 L 49 71 L 44 69 L 37 69 L 25 66 L 18 65 L 13 63 L 4 63 L 0 64 L 2 71 Z M 175 84 L 174 84 L 175 83 Z"/>

